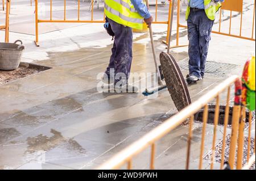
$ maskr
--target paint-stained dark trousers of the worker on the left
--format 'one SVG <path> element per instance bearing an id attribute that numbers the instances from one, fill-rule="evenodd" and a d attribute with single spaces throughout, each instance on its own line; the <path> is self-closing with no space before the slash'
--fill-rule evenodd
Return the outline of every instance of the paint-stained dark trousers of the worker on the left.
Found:
<path id="1" fill-rule="evenodd" d="M 123 75 L 122 79 L 125 79 L 124 81 L 127 82 L 131 70 L 131 61 L 133 60 L 133 31 L 130 27 L 123 26 L 109 18 L 108 20 L 112 31 L 115 33 L 115 39 L 112 56 L 105 73 L 110 75 L 110 69 L 114 69 L 115 83 L 121 79 L 118 73 Z"/>

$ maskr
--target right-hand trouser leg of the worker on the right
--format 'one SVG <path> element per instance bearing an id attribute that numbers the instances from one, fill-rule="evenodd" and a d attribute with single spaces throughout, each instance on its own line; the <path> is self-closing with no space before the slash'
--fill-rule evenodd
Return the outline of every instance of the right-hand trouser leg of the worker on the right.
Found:
<path id="1" fill-rule="evenodd" d="M 214 21 L 210 20 L 204 11 L 201 12 L 201 22 L 199 25 L 199 48 L 200 48 L 200 74 L 204 77 L 205 62 L 207 60 L 210 32 Z"/>

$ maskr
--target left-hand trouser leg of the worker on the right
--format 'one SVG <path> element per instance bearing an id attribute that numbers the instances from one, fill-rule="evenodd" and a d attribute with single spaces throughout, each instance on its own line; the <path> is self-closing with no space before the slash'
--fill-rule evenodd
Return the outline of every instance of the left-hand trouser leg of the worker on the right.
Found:
<path id="1" fill-rule="evenodd" d="M 200 50 L 199 50 L 199 30 L 197 27 L 196 12 L 191 11 L 187 24 L 188 24 L 188 56 L 189 56 L 189 75 L 200 77 Z"/>

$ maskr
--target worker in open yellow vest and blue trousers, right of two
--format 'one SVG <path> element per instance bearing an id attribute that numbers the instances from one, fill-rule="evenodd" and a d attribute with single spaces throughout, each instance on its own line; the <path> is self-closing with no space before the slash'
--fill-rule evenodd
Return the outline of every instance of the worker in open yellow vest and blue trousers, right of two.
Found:
<path id="1" fill-rule="evenodd" d="M 188 25 L 188 83 L 204 78 L 205 62 L 210 41 L 210 33 L 215 14 L 224 0 L 188 0 L 186 20 Z"/>

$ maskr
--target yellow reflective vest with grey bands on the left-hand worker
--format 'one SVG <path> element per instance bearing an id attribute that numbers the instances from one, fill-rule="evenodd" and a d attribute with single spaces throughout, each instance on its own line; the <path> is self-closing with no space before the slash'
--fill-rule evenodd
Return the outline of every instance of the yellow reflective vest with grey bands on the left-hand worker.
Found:
<path id="1" fill-rule="evenodd" d="M 143 17 L 134 9 L 130 0 L 105 0 L 105 14 L 124 26 L 143 29 Z"/>

